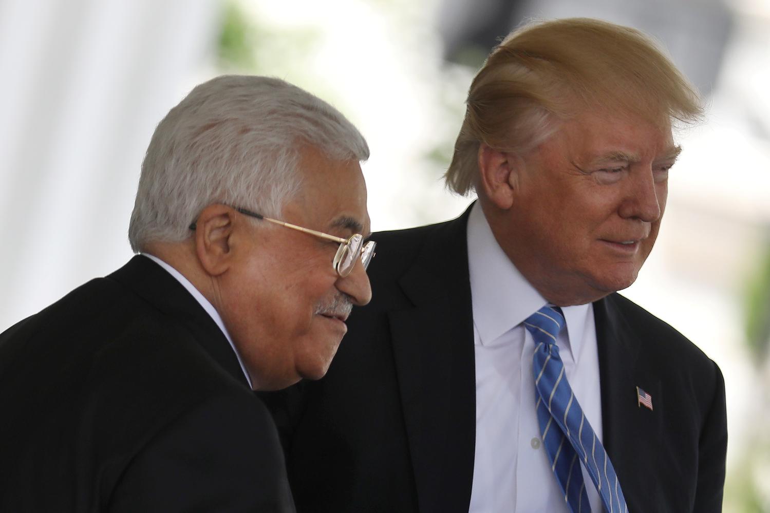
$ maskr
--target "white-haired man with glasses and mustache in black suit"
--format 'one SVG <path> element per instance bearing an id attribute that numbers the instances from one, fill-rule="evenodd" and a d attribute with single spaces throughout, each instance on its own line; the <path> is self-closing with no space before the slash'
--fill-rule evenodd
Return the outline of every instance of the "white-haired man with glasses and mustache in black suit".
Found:
<path id="1" fill-rule="evenodd" d="M 253 390 L 322 377 L 370 300 L 368 155 L 278 79 L 174 107 L 142 163 L 139 255 L 0 334 L 0 510 L 293 511 Z"/>

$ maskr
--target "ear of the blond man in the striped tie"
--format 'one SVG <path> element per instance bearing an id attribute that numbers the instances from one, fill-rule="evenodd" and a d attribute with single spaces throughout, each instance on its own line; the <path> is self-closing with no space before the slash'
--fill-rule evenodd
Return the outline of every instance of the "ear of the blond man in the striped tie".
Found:
<path id="1" fill-rule="evenodd" d="M 484 195 L 497 208 L 511 208 L 521 173 L 521 159 L 514 153 L 494 149 L 482 142 L 479 145 L 478 166 L 478 186 Z"/>

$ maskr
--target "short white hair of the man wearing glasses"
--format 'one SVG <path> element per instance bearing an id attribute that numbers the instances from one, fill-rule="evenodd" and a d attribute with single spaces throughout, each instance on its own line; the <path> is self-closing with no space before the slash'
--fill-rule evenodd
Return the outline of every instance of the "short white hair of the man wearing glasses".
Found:
<path id="1" fill-rule="evenodd" d="M 132 249 L 185 240 L 213 203 L 280 216 L 300 190 L 305 145 L 340 162 L 369 158 L 345 116 L 288 82 L 223 75 L 196 86 L 152 134 L 129 224 Z"/>

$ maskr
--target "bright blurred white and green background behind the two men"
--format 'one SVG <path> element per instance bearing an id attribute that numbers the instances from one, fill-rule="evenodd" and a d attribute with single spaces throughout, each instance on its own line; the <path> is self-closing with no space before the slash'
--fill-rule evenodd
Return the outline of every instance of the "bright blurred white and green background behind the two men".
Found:
<path id="1" fill-rule="evenodd" d="M 497 38 L 574 15 L 654 35 L 710 103 L 624 294 L 721 366 L 725 511 L 770 511 L 770 0 L 0 0 L 0 331 L 131 257 L 144 150 L 197 83 L 275 75 L 333 103 L 370 143 L 373 230 L 415 226 L 470 203 L 440 176 Z"/>

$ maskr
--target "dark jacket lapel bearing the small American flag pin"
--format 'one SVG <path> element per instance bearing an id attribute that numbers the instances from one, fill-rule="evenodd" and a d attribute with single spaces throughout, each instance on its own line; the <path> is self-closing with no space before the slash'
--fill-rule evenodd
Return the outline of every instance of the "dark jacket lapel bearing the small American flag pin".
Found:
<path id="1" fill-rule="evenodd" d="M 601 379 L 601 415 L 607 450 L 631 511 L 648 511 L 654 498 L 655 454 L 661 440 L 661 383 L 644 364 L 643 342 L 611 294 L 594 303 Z M 626 312 L 625 314 L 628 314 Z M 637 388 L 652 396 L 639 406 Z"/>

